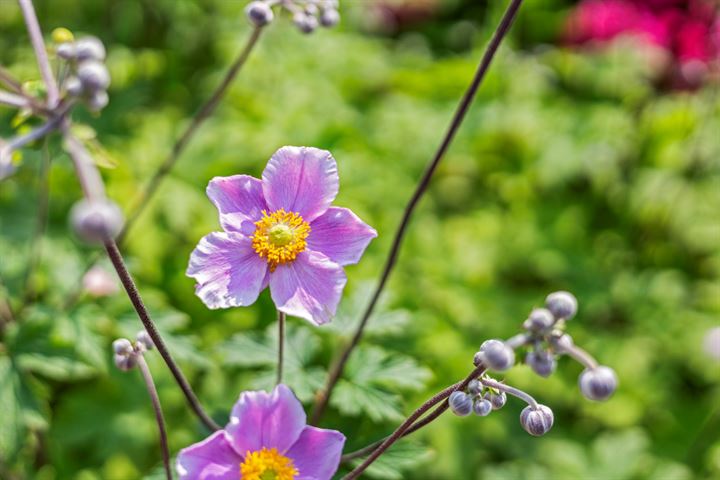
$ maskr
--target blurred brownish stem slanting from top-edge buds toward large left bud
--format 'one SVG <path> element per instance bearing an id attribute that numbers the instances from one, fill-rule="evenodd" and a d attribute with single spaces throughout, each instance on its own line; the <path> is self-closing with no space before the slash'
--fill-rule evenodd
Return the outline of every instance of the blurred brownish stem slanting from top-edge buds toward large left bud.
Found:
<path id="1" fill-rule="evenodd" d="M 140 195 L 138 196 L 135 203 L 135 207 L 131 209 L 132 213 L 128 215 L 128 220 L 125 223 L 122 232 L 120 232 L 120 235 L 118 236 L 118 244 L 122 245 L 124 243 L 125 237 L 127 236 L 128 232 L 147 207 L 150 199 L 157 191 L 162 180 L 168 173 L 170 173 L 170 170 L 172 170 L 175 163 L 185 151 L 185 148 L 190 142 L 190 139 L 193 137 L 193 135 L 195 135 L 200 126 L 205 122 L 205 120 L 208 119 L 208 117 L 210 117 L 210 115 L 215 111 L 215 108 L 217 108 L 217 106 L 220 104 L 220 101 L 225 96 L 228 87 L 235 79 L 237 74 L 240 72 L 243 65 L 245 65 L 245 62 L 250 56 L 250 53 L 255 48 L 255 45 L 257 44 L 257 41 L 260 38 L 260 34 L 262 33 L 262 31 L 262 27 L 256 27 L 255 29 L 253 29 L 250 37 L 245 43 L 245 46 L 228 69 L 222 82 L 220 82 L 220 85 L 218 85 L 218 87 L 215 89 L 210 98 L 203 104 L 203 106 L 200 107 L 200 110 L 198 110 L 197 114 L 195 114 L 192 121 L 190 122 L 190 125 L 188 125 L 182 135 L 180 135 L 180 138 L 178 138 L 178 140 L 173 145 L 170 154 L 167 156 L 165 161 L 160 164 L 158 169 L 153 174 L 152 178 L 145 187 L 145 190 L 140 192 Z"/>

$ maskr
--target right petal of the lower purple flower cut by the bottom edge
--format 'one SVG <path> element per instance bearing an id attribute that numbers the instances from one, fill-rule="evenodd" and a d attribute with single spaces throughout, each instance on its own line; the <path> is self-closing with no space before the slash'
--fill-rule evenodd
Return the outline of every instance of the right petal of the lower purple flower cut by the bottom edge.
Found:
<path id="1" fill-rule="evenodd" d="M 305 427 L 287 456 L 300 475 L 295 480 L 330 480 L 340 464 L 345 435 L 335 430 Z"/>

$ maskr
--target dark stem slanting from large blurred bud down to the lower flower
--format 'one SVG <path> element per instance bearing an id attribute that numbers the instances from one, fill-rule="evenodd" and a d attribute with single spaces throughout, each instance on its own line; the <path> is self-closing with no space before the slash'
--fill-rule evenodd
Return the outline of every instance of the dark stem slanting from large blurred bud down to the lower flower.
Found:
<path id="1" fill-rule="evenodd" d="M 210 430 L 220 430 L 218 424 L 216 424 L 205 413 L 202 406 L 200 406 L 200 402 L 195 396 L 192 387 L 190 387 L 190 384 L 185 379 L 185 376 L 180 370 L 180 367 L 178 367 L 178 365 L 175 363 L 175 360 L 173 360 L 170 352 L 167 349 L 167 346 L 165 345 L 165 342 L 160 336 L 160 333 L 157 331 L 155 324 L 150 319 L 150 315 L 148 314 L 148 311 L 145 308 L 145 304 L 143 304 L 142 298 L 140 297 L 140 292 L 138 292 L 137 287 L 135 286 L 135 282 L 133 281 L 132 277 L 130 276 L 130 272 L 128 272 L 127 267 L 125 266 L 125 262 L 123 261 L 122 254 L 118 249 L 117 243 L 115 243 L 114 240 L 107 240 L 105 242 L 105 250 L 107 250 L 110 261 L 112 262 L 113 267 L 115 267 L 115 270 L 120 277 L 120 281 L 122 282 L 123 287 L 125 287 L 125 291 L 127 292 L 128 297 L 130 297 L 130 301 L 132 302 L 133 307 L 135 307 L 135 311 L 137 312 L 140 321 L 143 323 L 143 326 L 150 335 L 150 338 L 152 338 L 153 343 L 155 343 L 155 346 L 157 347 L 160 356 L 163 358 L 163 360 L 165 360 L 165 363 L 170 369 L 170 372 L 173 374 L 173 377 L 175 377 L 175 381 L 177 381 L 180 389 L 185 394 L 185 398 L 190 405 L 190 408 L 192 408 L 192 410 L 195 412 L 195 415 L 197 415 L 200 421 L 207 428 L 209 428 Z"/>

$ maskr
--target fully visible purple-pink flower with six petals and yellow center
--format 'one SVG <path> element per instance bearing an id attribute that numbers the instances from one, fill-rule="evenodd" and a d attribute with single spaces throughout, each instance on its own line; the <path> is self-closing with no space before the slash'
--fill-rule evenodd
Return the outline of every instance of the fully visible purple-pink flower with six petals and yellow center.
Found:
<path id="1" fill-rule="evenodd" d="M 339 188 L 330 152 L 283 147 L 262 180 L 216 177 L 208 197 L 224 232 L 205 236 L 187 275 L 209 308 L 247 306 L 268 285 L 278 310 L 317 325 L 335 314 L 347 278 L 377 232 L 346 208 L 331 207 Z"/>

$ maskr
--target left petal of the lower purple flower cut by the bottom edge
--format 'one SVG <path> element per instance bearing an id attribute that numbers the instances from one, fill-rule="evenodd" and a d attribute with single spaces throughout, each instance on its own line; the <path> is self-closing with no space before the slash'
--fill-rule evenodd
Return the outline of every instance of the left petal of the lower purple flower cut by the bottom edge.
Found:
<path id="1" fill-rule="evenodd" d="M 175 468 L 179 478 L 191 480 L 238 480 L 242 457 L 220 430 L 200 443 L 180 450 Z"/>

